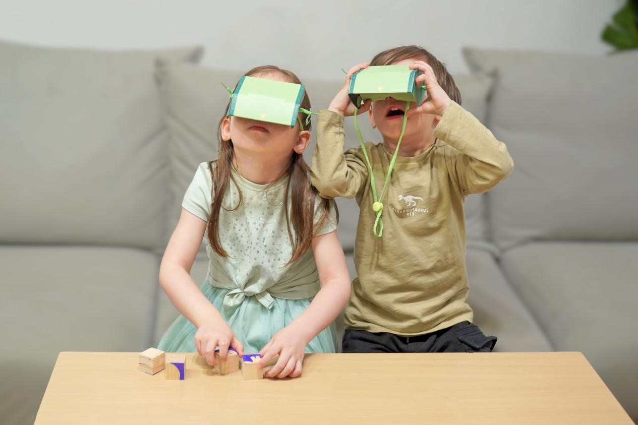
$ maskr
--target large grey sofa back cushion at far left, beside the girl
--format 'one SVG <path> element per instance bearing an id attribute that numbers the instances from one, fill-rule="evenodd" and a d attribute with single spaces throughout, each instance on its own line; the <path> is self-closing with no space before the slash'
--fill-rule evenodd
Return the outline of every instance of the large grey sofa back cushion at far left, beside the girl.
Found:
<path id="1" fill-rule="evenodd" d="M 159 248 L 167 131 L 157 57 L 0 41 L 0 243 Z"/>

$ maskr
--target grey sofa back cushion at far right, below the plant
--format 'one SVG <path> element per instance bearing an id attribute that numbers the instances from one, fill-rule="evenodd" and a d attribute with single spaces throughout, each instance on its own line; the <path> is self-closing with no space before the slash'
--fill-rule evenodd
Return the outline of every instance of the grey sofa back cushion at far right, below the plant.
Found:
<path id="1" fill-rule="evenodd" d="M 638 53 L 465 54 L 498 73 L 487 124 L 516 164 L 488 197 L 494 241 L 638 239 Z"/>

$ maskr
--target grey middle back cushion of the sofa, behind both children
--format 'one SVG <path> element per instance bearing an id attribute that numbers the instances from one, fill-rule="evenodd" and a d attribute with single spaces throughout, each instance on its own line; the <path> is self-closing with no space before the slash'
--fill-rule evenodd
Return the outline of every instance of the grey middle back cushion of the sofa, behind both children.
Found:
<path id="1" fill-rule="evenodd" d="M 179 218 L 181 199 L 188 184 L 193 179 L 197 166 L 205 160 L 217 157 L 218 121 L 223 116 L 228 93 L 219 84 L 223 80 L 233 87 L 241 73 L 204 68 L 187 63 L 167 63 L 158 61 L 158 84 L 165 103 L 166 119 L 172 137 L 170 147 L 172 163 L 171 191 L 174 198 L 170 207 L 170 219 L 167 233 L 174 230 Z M 299 74 L 306 85 L 313 110 L 327 108 L 334 94 L 343 84 L 342 81 L 306 80 Z M 492 80 L 487 75 L 457 75 L 454 77 L 463 94 L 463 104 L 479 119 L 486 113 L 486 98 Z M 380 140 L 378 131 L 371 128 L 367 117 L 360 116 L 359 123 L 365 140 Z M 316 128 L 316 118 L 313 117 Z M 359 145 L 354 131 L 352 117 L 346 119 L 346 148 Z M 310 163 L 316 144 L 315 134 L 311 145 L 304 153 L 306 162 Z M 359 207 L 354 200 L 339 198 L 339 239 L 346 251 L 354 248 Z M 466 201 L 466 223 L 468 241 L 485 243 L 487 235 L 487 219 L 483 195 L 472 195 Z"/>

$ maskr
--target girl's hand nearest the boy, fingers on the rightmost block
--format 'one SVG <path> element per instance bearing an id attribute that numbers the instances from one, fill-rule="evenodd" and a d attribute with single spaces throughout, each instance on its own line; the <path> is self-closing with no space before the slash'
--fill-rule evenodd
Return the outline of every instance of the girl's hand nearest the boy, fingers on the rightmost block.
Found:
<path id="1" fill-rule="evenodd" d="M 301 375 L 307 344 L 308 341 L 301 332 L 297 332 L 288 325 L 277 332 L 259 352 L 262 355 L 262 361 L 257 367 L 263 369 L 273 357 L 279 354 L 279 360 L 263 376 L 297 378 Z"/>

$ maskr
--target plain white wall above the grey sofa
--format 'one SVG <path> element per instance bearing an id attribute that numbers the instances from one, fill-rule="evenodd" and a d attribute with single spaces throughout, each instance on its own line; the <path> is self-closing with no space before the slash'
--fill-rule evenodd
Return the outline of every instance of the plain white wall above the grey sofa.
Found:
<path id="1" fill-rule="evenodd" d="M 600 33 L 623 0 L 2 0 L 0 38 L 55 46 L 202 44 L 204 63 L 272 63 L 334 78 L 397 45 L 423 45 L 450 71 L 461 46 L 604 53 Z"/>

